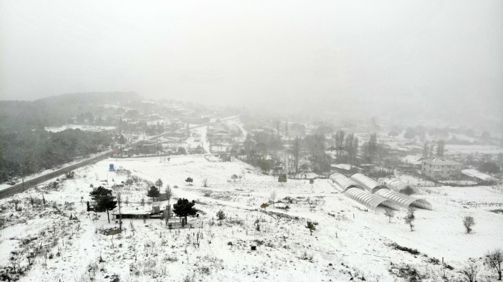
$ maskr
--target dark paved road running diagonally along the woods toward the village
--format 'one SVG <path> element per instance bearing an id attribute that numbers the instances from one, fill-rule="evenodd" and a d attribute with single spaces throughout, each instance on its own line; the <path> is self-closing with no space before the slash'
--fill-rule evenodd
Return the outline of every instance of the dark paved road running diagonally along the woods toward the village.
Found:
<path id="1" fill-rule="evenodd" d="M 227 117 L 227 118 L 222 119 L 222 121 L 229 120 L 229 119 L 234 119 L 234 118 L 237 118 L 237 117 L 238 116 Z M 202 126 L 207 126 L 207 125 L 210 125 L 212 123 L 215 123 L 215 122 L 208 122 L 208 123 L 204 123 L 204 124 L 199 124 L 199 125 L 196 125 L 196 126 L 189 127 L 189 129 L 194 129 L 194 128 L 198 128 L 198 127 L 202 127 Z M 169 133 L 172 133 L 172 131 L 170 131 L 170 132 L 164 132 L 162 134 L 159 134 L 159 135 L 156 135 L 156 136 L 152 136 L 149 139 L 154 140 L 154 139 L 160 138 L 160 137 L 162 137 L 164 135 L 167 135 Z M 136 143 L 132 143 L 129 146 L 134 146 L 134 144 L 136 144 Z M 25 181 L 24 183 L 18 183 L 16 185 L 11 186 L 11 187 L 2 189 L 2 190 L 0 190 L 0 199 L 11 197 L 13 195 L 16 195 L 17 193 L 24 192 L 25 190 L 31 189 L 31 188 L 33 188 L 33 187 L 35 187 L 35 186 L 37 186 L 37 185 L 39 185 L 39 184 L 41 184 L 43 182 L 46 182 L 46 181 L 48 181 L 48 180 L 50 180 L 52 178 L 56 178 L 56 177 L 58 177 L 60 175 L 63 175 L 65 173 L 67 173 L 68 171 L 72 171 L 72 170 L 75 170 L 75 169 L 78 169 L 78 168 L 81 168 L 81 167 L 85 167 L 85 166 L 97 163 L 99 161 L 103 161 L 105 159 L 108 159 L 108 157 L 110 157 L 111 153 L 112 153 L 112 151 L 110 150 L 110 151 L 107 151 L 107 152 L 103 153 L 100 156 L 96 156 L 96 157 L 93 157 L 93 158 L 90 158 L 90 159 L 87 159 L 87 160 L 83 160 L 80 163 L 76 163 L 76 164 L 64 167 L 62 169 L 59 169 L 59 170 L 56 170 L 56 171 L 44 174 L 42 176 L 39 176 L 39 177 L 36 177 L 36 178 L 32 178 L 30 180 Z"/>

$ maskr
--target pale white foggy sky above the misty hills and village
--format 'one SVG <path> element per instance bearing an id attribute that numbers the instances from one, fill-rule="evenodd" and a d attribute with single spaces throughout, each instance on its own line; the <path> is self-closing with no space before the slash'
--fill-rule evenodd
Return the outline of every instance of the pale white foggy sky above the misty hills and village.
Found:
<path id="1" fill-rule="evenodd" d="M 503 1 L 0 0 L 0 99 L 503 110 Z"/>

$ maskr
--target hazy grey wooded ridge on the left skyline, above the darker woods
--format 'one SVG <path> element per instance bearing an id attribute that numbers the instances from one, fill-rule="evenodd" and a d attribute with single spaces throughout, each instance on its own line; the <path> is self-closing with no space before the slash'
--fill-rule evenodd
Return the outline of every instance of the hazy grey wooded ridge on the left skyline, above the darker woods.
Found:
<path id="1" fill-rule="evenodd" d="M 78 114 L 99 115 L 97 105 L 140 100 L 136 92 L 70 93 L 35 101 L 0 101 L 0 130 L 23 131 L 59 126 Z"/>

